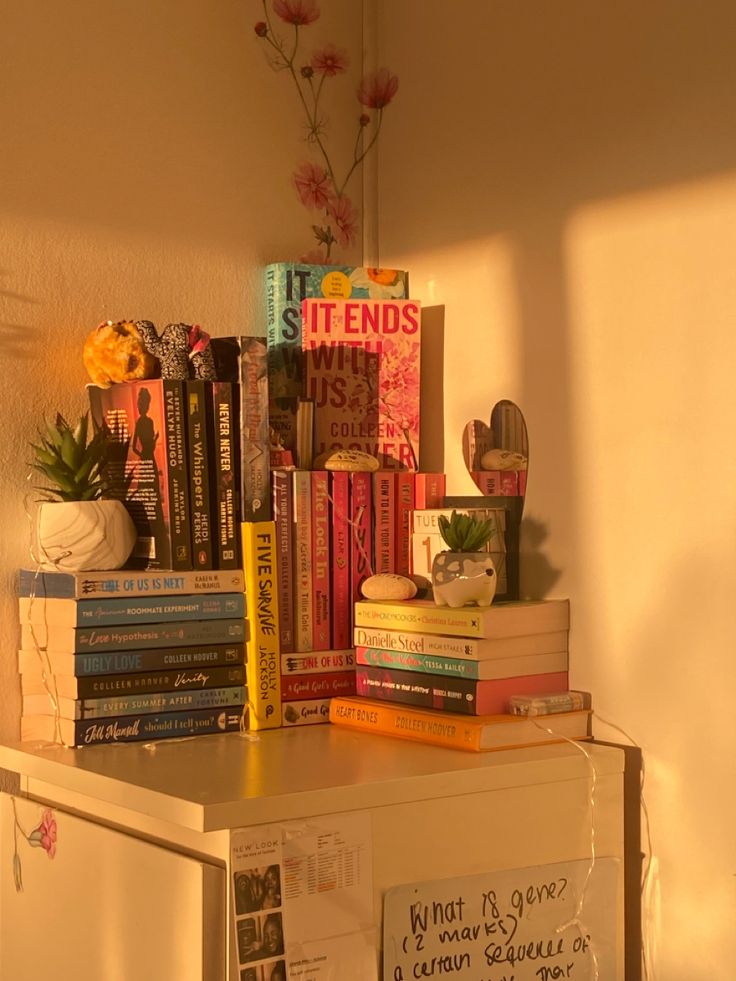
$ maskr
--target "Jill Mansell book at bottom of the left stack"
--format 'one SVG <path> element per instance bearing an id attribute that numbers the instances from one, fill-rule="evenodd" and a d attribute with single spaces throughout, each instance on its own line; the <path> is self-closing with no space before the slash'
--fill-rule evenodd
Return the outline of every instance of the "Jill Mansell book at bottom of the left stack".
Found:
<path id="1" fill-rule="evenodd" d="M 114 719 L 57 719 L 53 715 L 26 715 L 21 719 L 24 742 L 63 742 L 66 746 L 98 746 L 141 739 L 176 739 L 240 730 L 242 706 L 198 711 L 138 713 Z"/>

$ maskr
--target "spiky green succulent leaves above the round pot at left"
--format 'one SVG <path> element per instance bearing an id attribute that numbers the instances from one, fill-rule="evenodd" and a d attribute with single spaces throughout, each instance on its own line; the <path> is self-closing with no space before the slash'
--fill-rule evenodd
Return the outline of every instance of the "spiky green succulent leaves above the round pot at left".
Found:
<path id="1" fill-rule="evenodd" d="M 89 435 L 89 413 L 72 428 L 58 413 L 56 422 L 44 421 L 40 441 L 31 443 L 31 466 L 51 486 L 39 487 L 46 501 L 94 501 L 109 489 L 106 477 L 110 433 L 103 427 Z"/>

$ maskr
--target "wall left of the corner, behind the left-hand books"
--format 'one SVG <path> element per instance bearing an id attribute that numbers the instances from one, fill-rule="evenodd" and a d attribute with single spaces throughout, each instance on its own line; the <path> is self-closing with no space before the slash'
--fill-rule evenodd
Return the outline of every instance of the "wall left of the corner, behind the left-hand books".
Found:
<path id="1" fill-rule="evenodd" d="M 362 6 L 324 6 L 299 50 L 304 63 L 329 42 L 348 55 L 323 98 L 344 172 L 361 109 Z M 85 337 L 127 318 L 261 332 L 262 265 L 312 248 L 314 214 L 292 174 L 318 158 L 288 73 L 271 70 L 254 31 L 262 18 L 260 0 L 4 5 L 1 738 L 18 732 L 12 583 L 29 562 L 27 445 L 44 415 L 86 408 Z M 278 31 L 291 42 L 291 26 Z M 350 191 L 360 204 L 359 171 Z M 339 254 L 359 261 L 359 240 Z"/>

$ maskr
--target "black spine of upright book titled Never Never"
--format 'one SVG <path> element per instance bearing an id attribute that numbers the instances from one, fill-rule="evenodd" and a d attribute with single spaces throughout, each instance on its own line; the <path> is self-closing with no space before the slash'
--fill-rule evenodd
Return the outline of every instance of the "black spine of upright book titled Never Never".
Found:
<path id="1" fill-rule="evenodd" d="M 238 568 L 236 496 L 236 453 L 233 427 L 232 382 L 208 382 L 210 395 L 209 426 L 212 436 L 210 456 L 210 489 L 213 500 L 214 540 L 217 566 Z"/>

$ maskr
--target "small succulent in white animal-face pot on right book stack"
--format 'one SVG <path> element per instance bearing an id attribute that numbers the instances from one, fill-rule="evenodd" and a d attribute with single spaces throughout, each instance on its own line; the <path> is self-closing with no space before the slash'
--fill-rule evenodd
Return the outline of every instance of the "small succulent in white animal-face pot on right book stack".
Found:
<path id="1" fill-rule="evenodd" d="M 493 559 L 484 551 L 496 534 L 495 522 L 453 511 L 437 519 L 447 549 L 432 562 L 432 594 L 438 606 L 490 606 L 496 595 Z"/>

